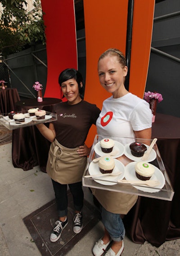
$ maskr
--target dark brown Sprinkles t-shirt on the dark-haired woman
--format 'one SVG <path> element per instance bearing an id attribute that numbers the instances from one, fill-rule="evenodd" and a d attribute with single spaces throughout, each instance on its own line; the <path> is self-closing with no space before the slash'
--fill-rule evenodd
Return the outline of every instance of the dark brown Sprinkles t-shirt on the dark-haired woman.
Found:
<path id="1" fill-rule="evenodd" d="M 75 148 L 84 145 L 92 124 L 96 123 L 100 109 L 95 104 L 81 100 L 78 104 L 68 105 L 67 102 L 54 106 L 58 120 L 53 122 L 56 139 L 64 147 Z"/>

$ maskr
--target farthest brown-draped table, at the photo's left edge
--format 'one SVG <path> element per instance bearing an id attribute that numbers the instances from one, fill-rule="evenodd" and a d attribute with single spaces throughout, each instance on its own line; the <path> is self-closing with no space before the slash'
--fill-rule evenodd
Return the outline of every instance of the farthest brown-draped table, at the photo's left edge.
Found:
<path id="1" fill-rule="evenodd" d="M 14 111 L 15 103 L 20 100 L 16 88 L 0 89 L 0 114 Z"/>

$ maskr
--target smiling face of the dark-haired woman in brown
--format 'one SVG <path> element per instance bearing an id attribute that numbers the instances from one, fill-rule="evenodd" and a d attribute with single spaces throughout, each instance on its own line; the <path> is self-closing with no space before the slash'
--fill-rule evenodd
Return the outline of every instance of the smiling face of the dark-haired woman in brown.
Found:
<path id="1" fill-rule="evenodd" d="M 61 89 L 63 95 L 68 100 L 68 104 L 74 105 L 81 101 L 81 97 L 79 95 L 78 83 L 74 78 L 64 81 L 61 84 Z"/>

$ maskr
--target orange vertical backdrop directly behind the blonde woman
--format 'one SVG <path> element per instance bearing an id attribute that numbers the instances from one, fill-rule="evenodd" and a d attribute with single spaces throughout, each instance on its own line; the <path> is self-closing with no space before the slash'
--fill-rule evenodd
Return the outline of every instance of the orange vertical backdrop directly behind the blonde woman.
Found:
<path id="1" fill-rule="evenodd" d="M 143 98 L 149 63 L 153 27 L 154 0 L 135 0 L 132 28 L 129 91 Z M 99 84 L 97 62 L 106 49 L 126 52 L 128 0 L 84 0 L 86 84 L 85 100 L 101 109 L 110 96 Z M 86 144 L 93 142 L 96 128 L 90 130 Z"/>

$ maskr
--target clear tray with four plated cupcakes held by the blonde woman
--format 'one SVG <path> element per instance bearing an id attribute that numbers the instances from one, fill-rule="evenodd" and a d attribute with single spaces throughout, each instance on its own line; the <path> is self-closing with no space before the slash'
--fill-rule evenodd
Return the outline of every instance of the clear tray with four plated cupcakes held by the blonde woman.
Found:
<path id="1" fill-rule="evenodd" d="M 95 135 L 83 186 L 171 201 L 174 191 L 156 140 Z"/>

